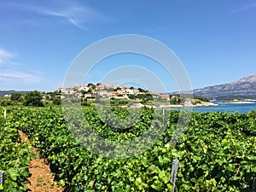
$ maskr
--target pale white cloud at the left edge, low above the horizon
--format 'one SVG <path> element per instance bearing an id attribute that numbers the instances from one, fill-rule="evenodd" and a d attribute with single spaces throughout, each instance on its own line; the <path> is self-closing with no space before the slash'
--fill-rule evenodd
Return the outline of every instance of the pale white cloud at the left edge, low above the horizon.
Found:
<path id="1" fill-rule="evenodd" d="M 0 79 L 1 81 L 19 80 L 21 82 L 36 83 L 40 76 L 35 73 L 25 72 L 15 61 L 15 54 L 0 48 Z"/>

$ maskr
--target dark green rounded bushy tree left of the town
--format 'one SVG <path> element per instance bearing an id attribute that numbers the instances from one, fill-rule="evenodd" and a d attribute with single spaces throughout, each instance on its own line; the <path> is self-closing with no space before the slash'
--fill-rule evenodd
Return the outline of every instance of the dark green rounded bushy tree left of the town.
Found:
<path id="1" fill-rule="evenodd" d="M 42 102 L 42 94 L 38 90 L 34 90 L 31 92 L 26 93 L 24 97 L 24 103 L 25 106 L 37 106 L 37 107 L 43 107 L 44 104 Z"/>

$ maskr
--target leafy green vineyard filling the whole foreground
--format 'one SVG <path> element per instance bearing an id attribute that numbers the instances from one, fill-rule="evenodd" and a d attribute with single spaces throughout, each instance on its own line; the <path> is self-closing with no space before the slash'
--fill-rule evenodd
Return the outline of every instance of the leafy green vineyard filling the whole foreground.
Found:
<path id="1" fill-rule="evenodd" d="M 26 191 L 27 165 L 34 154 L 31 146 L 19 144 L 19 130 L 66 191 L 172 191 L 174 159 L 179 160 L 175 191 L 256 191 L 256 113 L 193 113 L 187 130 L 173 145 L 179 113 L 134 109 L 129 115 L 138 120 L 132 125 L 117 123 L 127 117 L 125 109 L 84 108 L 84 119 L 76 125 L 71 119 L 79 114 L 67 112 L 64 119 L 61 108 L 7 108 L 6 118 L 0 114 L 0 170 L 4 171 L 0 191 Z M 96 147 L 88 146 L 92 141 L 86 137 L 93 131 L 112 142 L 131 141 L 155 127 L 160 131 L 147 135 L 148 140 L 152 135 L 158 138 L 150 148 L 122 159 L 98 155 L 111 156 L 115 147 L 102 146 L 102 140 L 93 142 Z M 143 137 L 141 142 L 148 140 Z"/>

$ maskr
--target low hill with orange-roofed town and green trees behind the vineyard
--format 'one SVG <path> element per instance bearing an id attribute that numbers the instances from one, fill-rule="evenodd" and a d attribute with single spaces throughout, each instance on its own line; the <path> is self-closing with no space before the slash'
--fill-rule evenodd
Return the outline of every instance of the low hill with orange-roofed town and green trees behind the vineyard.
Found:
<path id="1" fill-rule="evenodd" d="M 27 96 L 27 95 L 31 96 Z M 0 100 L 0 105 L 11 105 L 12 103 L 23 103 L 25 105 L 48 106 L 61 105 L 61 99 L 66 97 L 76 97 L 81 99 L 81 105 L 91 106 L 99 103 L 107 103 L 113 106 L 133 107 L 133 108 L 172 108 L 172 107 L 192 107 L 199 105 L 212 105 L 209 100 L 203 96 L 181 96 L 179 94 L 158 93 L 143 88 L 127 87 L 125 85 L 109 84 L 87 84 L 69 88 L 59 88 L 53 92 L 31 91 L 26 94 L 13 92 L 5 99 Z M 30 102 L 29 99 L 38 98 L 38 102 Z M 190 96 L 191 97 L 191 96 Z M 9 100 L 8 100 L 9 98 Z M 29 101 L 26 101 L 29 100 Z M 36 103 L 36 104 L 35 104 Z"/>

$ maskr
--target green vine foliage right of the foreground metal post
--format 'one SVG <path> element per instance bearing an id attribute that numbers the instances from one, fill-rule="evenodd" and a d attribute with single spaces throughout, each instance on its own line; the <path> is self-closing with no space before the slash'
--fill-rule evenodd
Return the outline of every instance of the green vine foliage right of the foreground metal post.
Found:
<path id="1" fill-rule="evenodd" d="M 255 115 L 195 113 L 177 148 L 177 186 L 189 191 L 248 191 L 256 176 Z M 207 133 L 207 134 L 206 134 Z"/>

